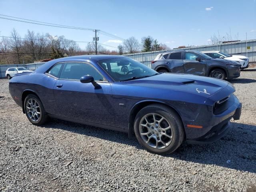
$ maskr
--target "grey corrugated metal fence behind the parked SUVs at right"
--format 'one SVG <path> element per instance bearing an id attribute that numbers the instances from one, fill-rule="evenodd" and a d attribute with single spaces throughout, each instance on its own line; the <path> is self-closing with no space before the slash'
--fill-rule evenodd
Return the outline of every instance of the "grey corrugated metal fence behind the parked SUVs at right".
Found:
<path id="1" fill-rule="evenodd" d="M 172 50 L 196 50 L 196 51 L 212 51 L 218 50 L 227 54 L 233 55 L 243 55 L 248 56 L 249 62 L 256 62 L 256 39 L 239 41 L 239 42 L 229 42 L 229 43 L 220 43 L 218 45 L 204 45 L 204 46 L 194 46 L 186 48 L 176 48 Z M 152 51 L 152 52 L 143 52 L 143 53 L 134 53 L 134 54 L 125 54 L 134 60 L 142 62 L 143 64 L 151 67 L 151 61 L 154 58 L 165 51 Z"/>

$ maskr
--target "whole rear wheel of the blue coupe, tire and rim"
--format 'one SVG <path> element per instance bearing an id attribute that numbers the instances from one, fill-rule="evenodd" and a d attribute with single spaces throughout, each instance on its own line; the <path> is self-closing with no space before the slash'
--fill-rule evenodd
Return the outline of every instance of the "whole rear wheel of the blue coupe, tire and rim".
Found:
<path id="1" fill-rule="evenodd" d="M 29 94 L 24 101 L 24 109 L 28 120 L 34 125 L 42 125 L 47 120 L 47 113 L 40 99 L 34 95 Z"/>

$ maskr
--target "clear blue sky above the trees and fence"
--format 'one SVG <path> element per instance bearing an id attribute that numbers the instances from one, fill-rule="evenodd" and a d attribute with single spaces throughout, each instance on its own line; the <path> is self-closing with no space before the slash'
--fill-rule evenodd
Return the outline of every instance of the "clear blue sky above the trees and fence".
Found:
<path id="1" fill-rule="evenodd" d="M 170 48 L 204 45 L 218 32 L 244 40 L 256 39 L 256 0 L 0 0 L 0 14 L 62 25 L 96 28 L 121 38 L 152 36 Z M 15 28 L 92 41 L 92 31 L 26 24 L 0 19 L 0 36 Z M 99 34 L 100 43 L 120 41 Z M 79 44 L 82 49 L 86 43 Z M 110 50 L 114 49 L 106 47 Z"/>

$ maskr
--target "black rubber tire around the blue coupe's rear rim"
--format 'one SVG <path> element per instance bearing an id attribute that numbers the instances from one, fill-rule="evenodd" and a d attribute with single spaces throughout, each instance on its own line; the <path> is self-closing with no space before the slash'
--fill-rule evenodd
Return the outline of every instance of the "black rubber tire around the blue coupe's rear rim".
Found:
<path id="1" fill-rule="evenodd" d="M 28 112 L 29 109 L 27 108 L 27 106 L 29 106 L 28 102 L 31 102 L 31 99 L 36 101 L 36 103 L 38 104 L 38 107 L 39 107 L 39 110 L 38 110 L 38 108 L 36 110 L 38 112 L 40 112 L 39 118 L 36 118 L 36 119 L 34 118 L 34 120 L 33 120 L 33 118 L 30 117 L 30 116 L 32 116 L 32 112 Z M 29 107 L 31 107 L 31 106 L 29 106 Z M 30 122 L 33 125 L 42 125 L 48 119 L 48 115 L 47 115 L 46 111 L 44 110 L 44 106 L 43 106 L 42 102 L 34 94 L 29 94 L 28 96 L 26 96 L 26 98 L 24 100 L 24 110 L 25 110 L 28 120 L 30 120 Z"/>

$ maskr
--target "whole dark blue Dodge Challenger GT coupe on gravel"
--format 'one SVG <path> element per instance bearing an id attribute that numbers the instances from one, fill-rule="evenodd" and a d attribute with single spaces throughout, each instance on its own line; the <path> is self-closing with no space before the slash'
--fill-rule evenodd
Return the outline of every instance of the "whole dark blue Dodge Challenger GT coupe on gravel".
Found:
<path id="1" fill-rule="evenodd" d="M 51 117 L 127 132 L 156 154 L 174 152 L 184 140 L 214 142 L 241 114 L 232 84 L 158 73 L 125 56 L 52 60 L 16 74 L 9 90 L 34 125 Z"/>

